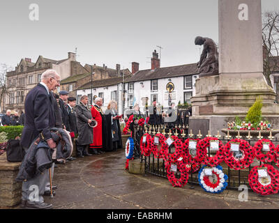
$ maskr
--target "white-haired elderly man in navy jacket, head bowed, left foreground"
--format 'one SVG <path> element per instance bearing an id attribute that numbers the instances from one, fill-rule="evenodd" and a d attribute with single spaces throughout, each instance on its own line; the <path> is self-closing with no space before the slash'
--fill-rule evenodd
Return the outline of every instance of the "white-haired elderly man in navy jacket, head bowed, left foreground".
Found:
<path id="1" fill-rule="evenodd" d="M 56 143 L 50 134 L 50 128 L 55 126 L 53 95 L 51 91 L 60 86 L 61 77 L 55 70 L 43 72 L 42 81 L 29 93 L 24 102 L 25 125 L 20 144 L 27 150 L 36 137 L 46 141 L 50 148 L 56 148 Z M 22 183 L 22 206 L 26 208 L 47 209 L 52 204 L 44 203 L 43 194 L 47 184 L 48 173 L 42 174 Z"/>

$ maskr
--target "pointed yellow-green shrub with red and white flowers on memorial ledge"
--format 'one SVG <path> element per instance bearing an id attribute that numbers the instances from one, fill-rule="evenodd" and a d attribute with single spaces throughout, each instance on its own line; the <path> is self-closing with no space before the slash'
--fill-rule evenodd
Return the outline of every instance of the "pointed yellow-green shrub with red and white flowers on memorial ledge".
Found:
<path id="1" fill-rule="evenodd" d="M 239 116 L 236 116 L 232 123 L 227 123 L 227 130 L 271 130 L 271 123 L 263 119 L 262 99 L 257 98 L 248 110 L 245 120 L 242 121 Z"/>

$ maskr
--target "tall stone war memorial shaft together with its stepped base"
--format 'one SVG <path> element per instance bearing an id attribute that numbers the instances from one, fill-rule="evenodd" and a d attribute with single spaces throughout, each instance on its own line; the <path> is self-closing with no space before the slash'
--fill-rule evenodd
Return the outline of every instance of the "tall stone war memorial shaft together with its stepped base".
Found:
<path id="1" fill-rule="evenodd" d="M 219 75 L 196 80 L 189 122 L 193 133 L 227 128 L 235 116 L 246 116 L 258 96 L 262 115 L 279 128 L 276 94 L 263 75 L 261 0 L 219 0 L 218 63 Z"/>

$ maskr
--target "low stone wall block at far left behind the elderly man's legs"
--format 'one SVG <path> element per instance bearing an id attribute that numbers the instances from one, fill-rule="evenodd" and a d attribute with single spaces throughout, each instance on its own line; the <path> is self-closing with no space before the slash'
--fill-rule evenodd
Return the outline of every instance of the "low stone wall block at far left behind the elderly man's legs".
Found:
<path id="1" fill-rule="evenodd" d="M 21 162 L 8 162 L 0 155 L 0 208 L 16 206 L 22 198 L 22 183 L 15 181 Z"/>

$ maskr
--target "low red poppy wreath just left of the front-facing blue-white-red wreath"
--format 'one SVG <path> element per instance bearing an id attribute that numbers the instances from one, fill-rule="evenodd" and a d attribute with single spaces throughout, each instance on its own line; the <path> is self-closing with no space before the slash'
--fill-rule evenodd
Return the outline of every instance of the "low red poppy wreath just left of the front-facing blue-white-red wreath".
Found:
<path id="1" fill-rule="evenodd" d="M 171 171 L 172 164 L 176 164 L 177 171 L 180 172 L 180 178 L 176 178 L 175 172 Z M 188 172 L 186 170 L 186 164 L 181 161 L 176 162 L 165 162 L 165 169 L 167 171 L 167 179 L 170 183 L 172 183 L 172 186 L 174 187 L 183 187 L 188 182 Z"/>

